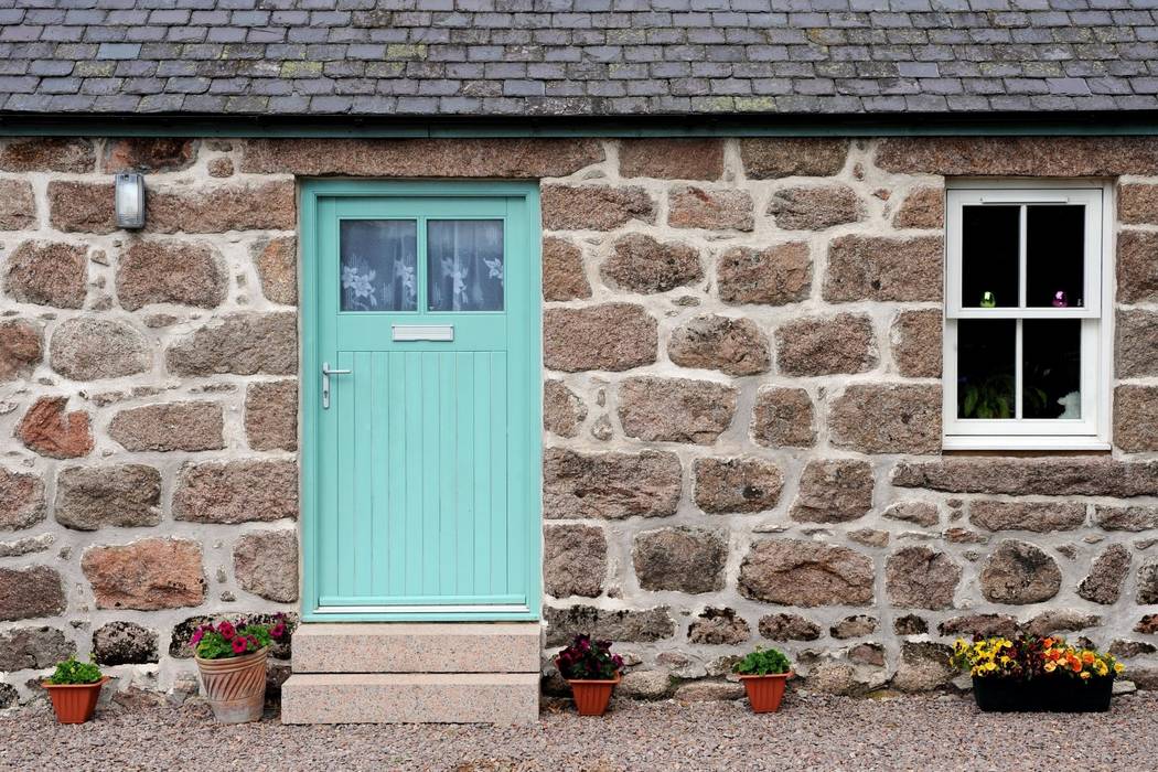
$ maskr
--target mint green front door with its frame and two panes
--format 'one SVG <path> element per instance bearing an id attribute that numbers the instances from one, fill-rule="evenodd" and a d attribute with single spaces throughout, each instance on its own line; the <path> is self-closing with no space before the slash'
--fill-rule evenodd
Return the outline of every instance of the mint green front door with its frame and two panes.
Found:
<path id="1" fill-rule="evenodd" d="M 306 618 L 537 618 L 537 188 L 310 182 L 302 240 Z"/>

